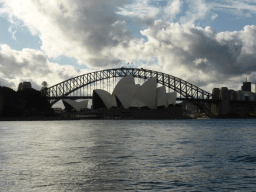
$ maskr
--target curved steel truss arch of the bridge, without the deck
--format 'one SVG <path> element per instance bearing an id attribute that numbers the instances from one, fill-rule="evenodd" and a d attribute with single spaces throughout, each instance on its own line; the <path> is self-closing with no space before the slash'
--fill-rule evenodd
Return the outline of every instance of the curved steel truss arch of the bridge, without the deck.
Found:
<path id="1" fill-rule="evenodd" d="M 136 78 L 142 79 L 157 77 L 157 83 L 164 85 L 165 87 L 168 87 L 179 93 L 180 96 L 184 98 L 184 100 L 194 103 L 209 117 L 215 117 L 215 115 L 211 111 L 211 108 L 209 107 L 209 102 L 212 101 L 213 97 L 212 94 L 178 77 L 143 68 L 122 67 L 83 74 L 53 85 L 47 89 L 44 89 L 42 90 L 42 94 L 49 97 L 50 104 L 53 105 L 63 97 L 67 97 L 72 92 L 81 89 L 84 86 L 88 86 L 92 83 L 104 79 L 125 77 L 127 75 L 133 75 Z"/>

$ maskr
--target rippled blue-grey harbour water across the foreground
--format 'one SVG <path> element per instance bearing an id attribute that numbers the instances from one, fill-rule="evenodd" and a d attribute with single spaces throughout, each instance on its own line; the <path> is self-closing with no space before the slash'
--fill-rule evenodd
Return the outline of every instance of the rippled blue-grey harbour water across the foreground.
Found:
<path id="1" fill-rule="evenodd" d="M 0 191 L 255 191 L 256 120 L 0 122 Z"/>

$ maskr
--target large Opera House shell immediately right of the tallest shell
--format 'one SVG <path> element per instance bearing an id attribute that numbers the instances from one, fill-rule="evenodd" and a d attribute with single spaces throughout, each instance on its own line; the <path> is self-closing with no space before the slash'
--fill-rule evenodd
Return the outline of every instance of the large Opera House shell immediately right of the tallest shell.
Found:
<path id="1" fill-rule="evenodd" d="M 145 103 L 150 109 L 156 107 L 156 77 L 147 80 L 140 86 L 134 98 Z"/>

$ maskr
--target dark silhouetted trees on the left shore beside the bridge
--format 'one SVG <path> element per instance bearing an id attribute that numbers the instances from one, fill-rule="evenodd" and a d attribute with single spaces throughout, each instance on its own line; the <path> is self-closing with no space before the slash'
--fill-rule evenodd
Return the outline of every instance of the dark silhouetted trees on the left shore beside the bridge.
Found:
<path id="1" fill-rule="evenodd" d="M 14 91 L 0 87 L 0 117 L 54 116 L 45 96 L 35 89 Z"/>

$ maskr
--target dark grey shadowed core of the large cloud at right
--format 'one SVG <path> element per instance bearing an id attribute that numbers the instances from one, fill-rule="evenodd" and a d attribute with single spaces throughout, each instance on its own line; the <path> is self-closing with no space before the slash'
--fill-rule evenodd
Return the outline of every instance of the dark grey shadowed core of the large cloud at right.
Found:
<path id="1" fill-rule="evenodd" d="M 202 31 L 192 28 L 191 53 L 187 57 L 187 64 L 196 58 L 206 58 L 208 61 L 201 65 L 191 65 L 196 69 L 208 72 L 215 70 L 227 75 L 235 75 L 241 72 L 241 66 L 238 63 L 238 57 L 241 54 L 242 44 L 236 43 L 235 40 L 221 44 L 216 39 L 206 36 Z"/>

